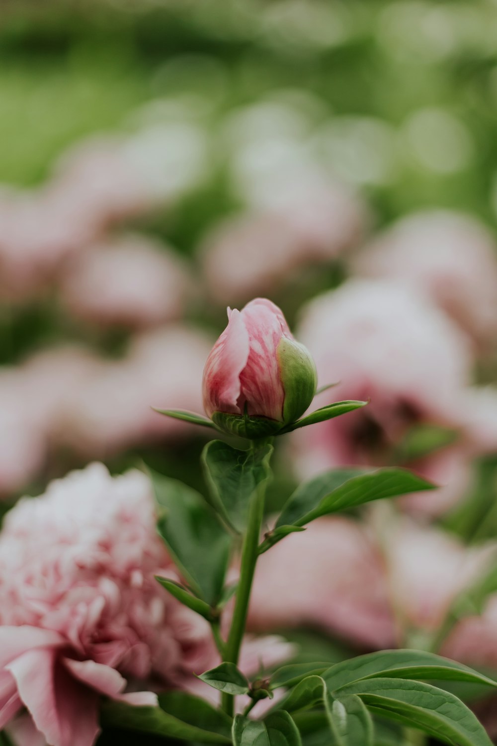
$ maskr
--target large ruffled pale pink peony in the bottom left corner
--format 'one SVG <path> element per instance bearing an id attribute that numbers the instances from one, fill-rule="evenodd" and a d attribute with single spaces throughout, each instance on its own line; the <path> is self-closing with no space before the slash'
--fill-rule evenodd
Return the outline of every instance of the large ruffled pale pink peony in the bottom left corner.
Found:
<path id="1" fill-rule="evenodd" d="M 196 689 L 192 672 L 218 665 L 209 624 L 154 575 L 177 578 L 155 528 L 151 484 L 101 464 L 25 498 L 0 535 L 0 728 L 37 743 L 92 746 L 101 695 L 153 704 L 152 692 Z M 279 638 L 247 639 L 247 673 L 279 662 Z M 129 686 L 130 693 L 123 694 Z M 38 733 L 37 733 L 38 732 Z M 28 741 L 27 741 L 28 742 Z"/>

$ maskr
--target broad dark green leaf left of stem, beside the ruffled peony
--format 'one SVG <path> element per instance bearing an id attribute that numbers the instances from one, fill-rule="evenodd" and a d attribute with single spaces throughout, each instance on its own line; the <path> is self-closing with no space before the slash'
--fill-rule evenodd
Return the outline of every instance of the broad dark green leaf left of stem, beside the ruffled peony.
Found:
<path id="1" fill-rule="evenodd" d="M 160 514 L 159 534 L 195 595 L 210 606 L 221 596 L 231 539 L 202 495 L 151 472 Z"/>

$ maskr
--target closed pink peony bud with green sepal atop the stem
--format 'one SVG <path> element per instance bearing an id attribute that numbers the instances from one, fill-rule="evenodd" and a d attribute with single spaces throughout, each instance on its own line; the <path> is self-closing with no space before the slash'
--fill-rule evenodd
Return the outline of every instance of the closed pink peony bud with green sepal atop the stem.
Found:
<path id="1" fill-rule="evenodd" d="M 266 298 L 250 301 L 241 311 L 228 308 L 228 319 L 203 370 L 203 406 L 229 433 L 273 435 L 311 404 L 314 360 Z"/>

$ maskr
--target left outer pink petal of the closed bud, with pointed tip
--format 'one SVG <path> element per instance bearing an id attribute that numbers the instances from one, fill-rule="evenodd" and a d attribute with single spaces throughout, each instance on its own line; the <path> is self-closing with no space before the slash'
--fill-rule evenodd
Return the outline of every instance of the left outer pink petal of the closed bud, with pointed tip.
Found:
<path id="1" fill-rule="evenodd" d="M 237 310 L 229 311 L 229 322 L 212 348 L 203 369 L 203 407 L 214 412 L 241 414 L 238 409 L 240 374 L 249 356 L 249 335 Z"/>

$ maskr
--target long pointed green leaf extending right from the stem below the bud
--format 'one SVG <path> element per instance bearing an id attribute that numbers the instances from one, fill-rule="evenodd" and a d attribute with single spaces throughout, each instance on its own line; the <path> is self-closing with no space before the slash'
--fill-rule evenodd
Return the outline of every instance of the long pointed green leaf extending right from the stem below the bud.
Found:
<path id="1" fill-rule="evenodd" d="M 422 489 L 434 489 L 434 485 L 402 468 L 334 469 L 297 487 L 276 527 L 303 526 L 321 515 Z"/>

